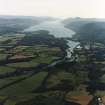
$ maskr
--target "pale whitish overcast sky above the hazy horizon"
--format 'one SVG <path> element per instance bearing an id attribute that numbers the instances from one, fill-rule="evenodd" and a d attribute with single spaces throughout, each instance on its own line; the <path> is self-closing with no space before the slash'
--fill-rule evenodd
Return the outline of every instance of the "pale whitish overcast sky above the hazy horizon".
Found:
<path id="1" fill-rule="evenodd" d="M 105 18 L 105 0 L 0 0 L 0 15 Z"/>

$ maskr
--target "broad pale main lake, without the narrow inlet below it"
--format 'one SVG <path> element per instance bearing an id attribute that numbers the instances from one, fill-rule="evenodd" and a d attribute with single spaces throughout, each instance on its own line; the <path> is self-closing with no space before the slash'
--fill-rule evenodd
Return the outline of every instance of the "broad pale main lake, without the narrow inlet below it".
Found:
<path id="1" fill-rule="evenodd" d="M 72 37 L 75 34 L 74 31 L 64 27 L 64 24 L 60 20 L 46 21 L 39 25 L 32 26 L 25 31 L 37 31 L 47 30 L 55 37 Z"/>

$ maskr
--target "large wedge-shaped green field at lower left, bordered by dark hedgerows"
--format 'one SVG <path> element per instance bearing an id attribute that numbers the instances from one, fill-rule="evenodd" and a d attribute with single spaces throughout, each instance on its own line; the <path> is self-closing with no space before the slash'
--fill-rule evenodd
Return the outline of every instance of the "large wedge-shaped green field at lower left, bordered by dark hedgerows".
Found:
<path id="1" fill-rule="evenodd" d="M 31 93 L 32 90 L 35 90 L 41 85 L 46 75 L 47 75 L 47 72 L 40 72 L 36 75 L 28 77 L 27 79 L 17 84 L 14 84 L 7 88 L 2 89 L 0 91 L 0 94 L 16 96 L 16 95 L 25 95 L 25 94 Z"/>

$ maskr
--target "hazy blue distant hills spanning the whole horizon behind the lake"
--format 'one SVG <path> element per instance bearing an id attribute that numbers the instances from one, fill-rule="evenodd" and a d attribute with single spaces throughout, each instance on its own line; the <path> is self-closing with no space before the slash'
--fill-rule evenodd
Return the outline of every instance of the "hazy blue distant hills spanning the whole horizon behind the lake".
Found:
<path id="1" fill-rule="evenodd" d="M 49 16 L 10 16 L 0 15 L 0 34 L 19 33 L 32 26 L 38 25 L 45 21 L 60 20 L 66 28 L 77 32 L 82 26 L 92 22 L 103 22 L 105 19 L 97 18 L 68 18 L 65 20 Z"/>

